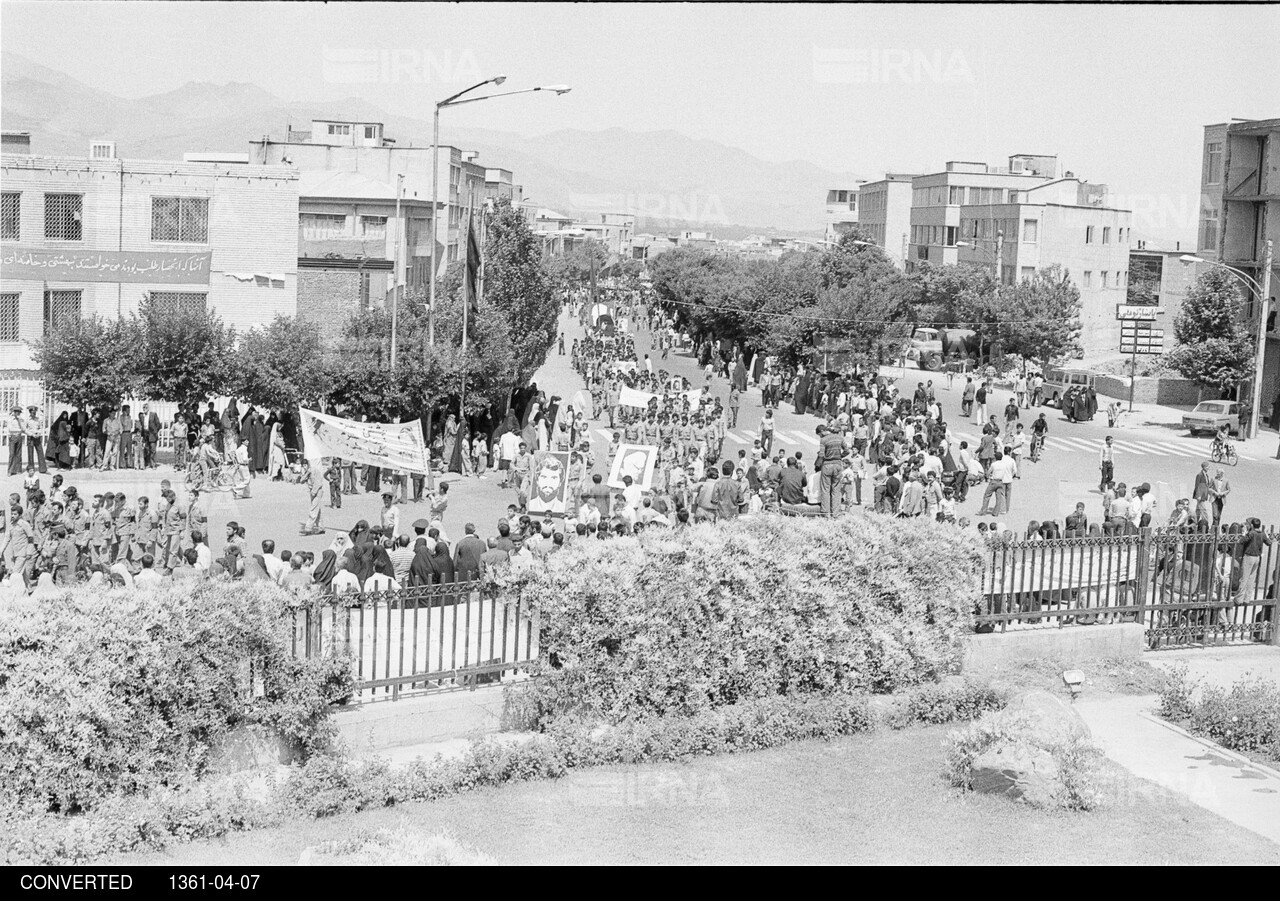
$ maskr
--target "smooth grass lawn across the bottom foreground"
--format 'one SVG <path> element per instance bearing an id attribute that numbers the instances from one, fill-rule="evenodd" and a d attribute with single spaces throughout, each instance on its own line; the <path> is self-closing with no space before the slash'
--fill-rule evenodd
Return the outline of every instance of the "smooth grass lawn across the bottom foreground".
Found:
<path id="1" fill-rule="evenodd" d="M 499 864 L 1280 864 L 1280 846 L 1119 769 L 1116 800 L 1093 813 L 961 795 L 940 776 L 947 731 L 586 769 L 102 863 L 292 864 L 317 842 L 404 827 Z"/>

